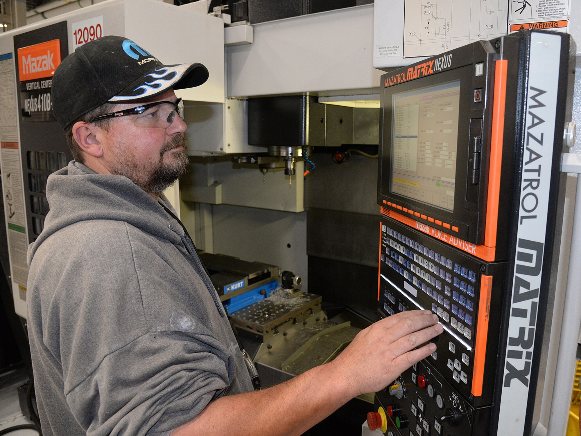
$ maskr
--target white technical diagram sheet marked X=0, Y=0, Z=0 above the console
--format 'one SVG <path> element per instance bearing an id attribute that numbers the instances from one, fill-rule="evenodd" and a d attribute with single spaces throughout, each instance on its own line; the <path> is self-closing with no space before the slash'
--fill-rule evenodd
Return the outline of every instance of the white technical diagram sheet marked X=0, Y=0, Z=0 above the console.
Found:
<path id="1" fill-rule="evenodd" d="M 404 57 L 433 56 L 505 35 L 504 0 L 406 0 Z"/>

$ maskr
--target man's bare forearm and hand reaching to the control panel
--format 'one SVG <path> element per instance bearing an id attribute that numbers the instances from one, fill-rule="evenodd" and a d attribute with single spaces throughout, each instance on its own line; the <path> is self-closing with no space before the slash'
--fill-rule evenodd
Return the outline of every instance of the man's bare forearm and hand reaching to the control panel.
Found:
<path id="1" fill-rule="evenodd" d="M 414 347 L 442 333 L 436 323 L 429 311 L 382 319 L 360 331 L 335 360 L 268 389 L 218 398 L 171 436 L 303 434 L 353 397 L 382 390 L 432 354 L 434 344 Z"/>

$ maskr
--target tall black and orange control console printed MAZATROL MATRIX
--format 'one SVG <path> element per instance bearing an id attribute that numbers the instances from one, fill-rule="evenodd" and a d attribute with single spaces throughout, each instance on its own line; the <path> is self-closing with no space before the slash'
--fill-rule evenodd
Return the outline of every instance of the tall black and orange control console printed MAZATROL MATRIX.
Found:
<path id="1" fill-rule="evenodd" d="M 370 428 L 532 434 L 561 235 L 570 52 L 569 35 L 532 31 L 382 76 L 379 316 L 429 309 L 444 330 L 431 357 L 376 392 Z"/>

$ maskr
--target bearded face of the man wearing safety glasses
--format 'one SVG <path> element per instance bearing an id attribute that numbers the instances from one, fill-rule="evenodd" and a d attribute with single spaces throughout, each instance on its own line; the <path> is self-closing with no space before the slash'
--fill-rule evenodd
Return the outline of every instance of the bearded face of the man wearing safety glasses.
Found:
<path id="1" fill-rule="evenodd" d="M 153 102 L 177 102 L 173 90 L 140 101 L 124 103 L 124 110 Z M 113 118 L 109 131 L 102 132 L 103 163 L 111 174 L 131 179 L 149 194 L 159 194 L 184 175 L 188 157 L 184 152 L 185 122 L 177 114 L 167 128 L 137 127 L 134 115 Z"/>

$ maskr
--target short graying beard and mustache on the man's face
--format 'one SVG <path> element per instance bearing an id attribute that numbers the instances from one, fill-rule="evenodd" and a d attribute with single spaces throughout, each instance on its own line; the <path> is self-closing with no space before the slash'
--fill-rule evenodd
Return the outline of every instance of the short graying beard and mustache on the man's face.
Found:
<path id="1" fill-rule="evenodd" d="M 112 173 L 127 177 L 150 195 L 159 196 L 186 172 L 189 159 L 183 150 L 174 152 L 175 162 L 170 164 L 163 162 L 164 153 L 184 145 L 184 142 L 183 135 L 176 135 L 171 138 L 160 150 L 159 161 L 153 168 L 139 168 L 134 160 L 123 159 L 116 167 L 112 168 Z"/>

